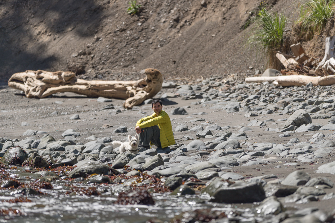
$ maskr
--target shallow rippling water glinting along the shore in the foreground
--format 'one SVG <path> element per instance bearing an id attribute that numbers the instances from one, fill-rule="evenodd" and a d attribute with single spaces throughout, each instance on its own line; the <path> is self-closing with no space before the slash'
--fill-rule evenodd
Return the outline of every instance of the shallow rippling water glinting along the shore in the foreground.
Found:
<path id="1" fill-rule="evenodd" d="M 99 191 L 107 191 L 100 196 L 70 196 L 65 195 L 67 190 L 62 183 L 53 183 L 53 189 L 42 189 L 46 195 L 27 196 L 31 202 L 8 203 L 2 202 L 2 209 L 18 209 L 24 215 L 6 216 L 0 222 L 110 222 L 110 223 L 141 223 L 172 222 L 174 218 L 180 219 L 185 212 L 196 209 L 210 209 L 218 213 L 224 212 L 228 218 L 222 222 L 257 222 L 263 218 L 255 217 L 253 204 L 230 205 L 206 202 L 205 195 L 170 196 L 165 194 L 152 194 L 155 205 L 117 205 L 114 202 L 117 196 L 111 192 L 111 186 L 98 186 Z M 58 186 L 57 186 L 58 185 Z M 76 186 L 79 186 L 76 185 Z M 82 185 L 81 185 L 82 186 Z M 91 185 L 90 185 L 91 186 Z M 10 194 L 13 190 L 0 191 L 0 200 L 13 199 Z M 15 195 L 18 197 L 17 195 Z M 22 196 L 22 195 L 21 195 Z M 185 220 L 188 213 L 184 214 Z M 177 216 L 177 217 L 176 217 Z M 160 221 L 158 221 L 160 220 Z M 187 221 L 186 221 L 187 222 Z"/>

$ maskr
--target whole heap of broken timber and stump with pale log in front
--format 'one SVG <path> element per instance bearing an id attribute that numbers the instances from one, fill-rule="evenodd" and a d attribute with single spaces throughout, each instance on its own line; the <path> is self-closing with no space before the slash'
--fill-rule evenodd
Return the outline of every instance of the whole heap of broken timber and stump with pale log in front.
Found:
<path id="1" fill-rule="evenodd" d="M 335 36 L 326 37 L 325 56 L 321 60 L 307 55 L 301 43 L 292 44 L 291 51 L 294 54 L 277 52 L 276 57 L 285 69 L 281 70 L 281 76 L 276 77 L 251 77 L 246 78 L 247 83 L 268 81 L 274 85 L 302 86 L 310 82 L 314 86 L 335 84 Z"/>

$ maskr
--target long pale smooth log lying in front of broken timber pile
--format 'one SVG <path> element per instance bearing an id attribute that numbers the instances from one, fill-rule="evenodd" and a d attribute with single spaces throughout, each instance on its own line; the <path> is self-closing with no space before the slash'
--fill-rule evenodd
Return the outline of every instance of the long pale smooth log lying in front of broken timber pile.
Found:
<path id="1" fill-rule="evenodd" d="M 268 81 L 274 85 L 280 86 L 303 86 L 312 82 L 314 86 L 328 86 L 335 84 L 335 75 L 328 75 L 324 77 L 312 77 L 305 75 L 289 75 L 289 76 L 277 76 L 277 77 L 251 77 L 246 78 L 247 83 L 262 83 Z"/>

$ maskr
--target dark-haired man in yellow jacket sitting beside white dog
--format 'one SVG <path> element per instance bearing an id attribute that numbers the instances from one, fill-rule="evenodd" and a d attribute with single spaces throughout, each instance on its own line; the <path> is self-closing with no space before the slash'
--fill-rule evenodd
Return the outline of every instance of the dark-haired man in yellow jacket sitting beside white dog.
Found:
<path id="1" fill-rule="evenodd" d="M 140 136 L 139 147 L 150 148 L 150 144 L 165 148 L 175 144 L 169 115 L 162 110 L 162 102 L 155 99 L 151 102 L 154 113 L 137 121 L 135 131 Z"/>

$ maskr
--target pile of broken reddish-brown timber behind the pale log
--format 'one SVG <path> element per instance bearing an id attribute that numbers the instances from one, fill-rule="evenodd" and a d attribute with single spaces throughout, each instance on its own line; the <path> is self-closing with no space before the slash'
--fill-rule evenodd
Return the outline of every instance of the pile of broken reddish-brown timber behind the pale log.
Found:
<path id="1" fill-rule="evenodd" d="M 281 75 L 317 76 L 315 68 L 321 59 L 308 56 L 300 42 L 290 47 L 294 56 L 279 51 L 276 53 L 276 57 L 285 67 L 280 71 Z"/>

